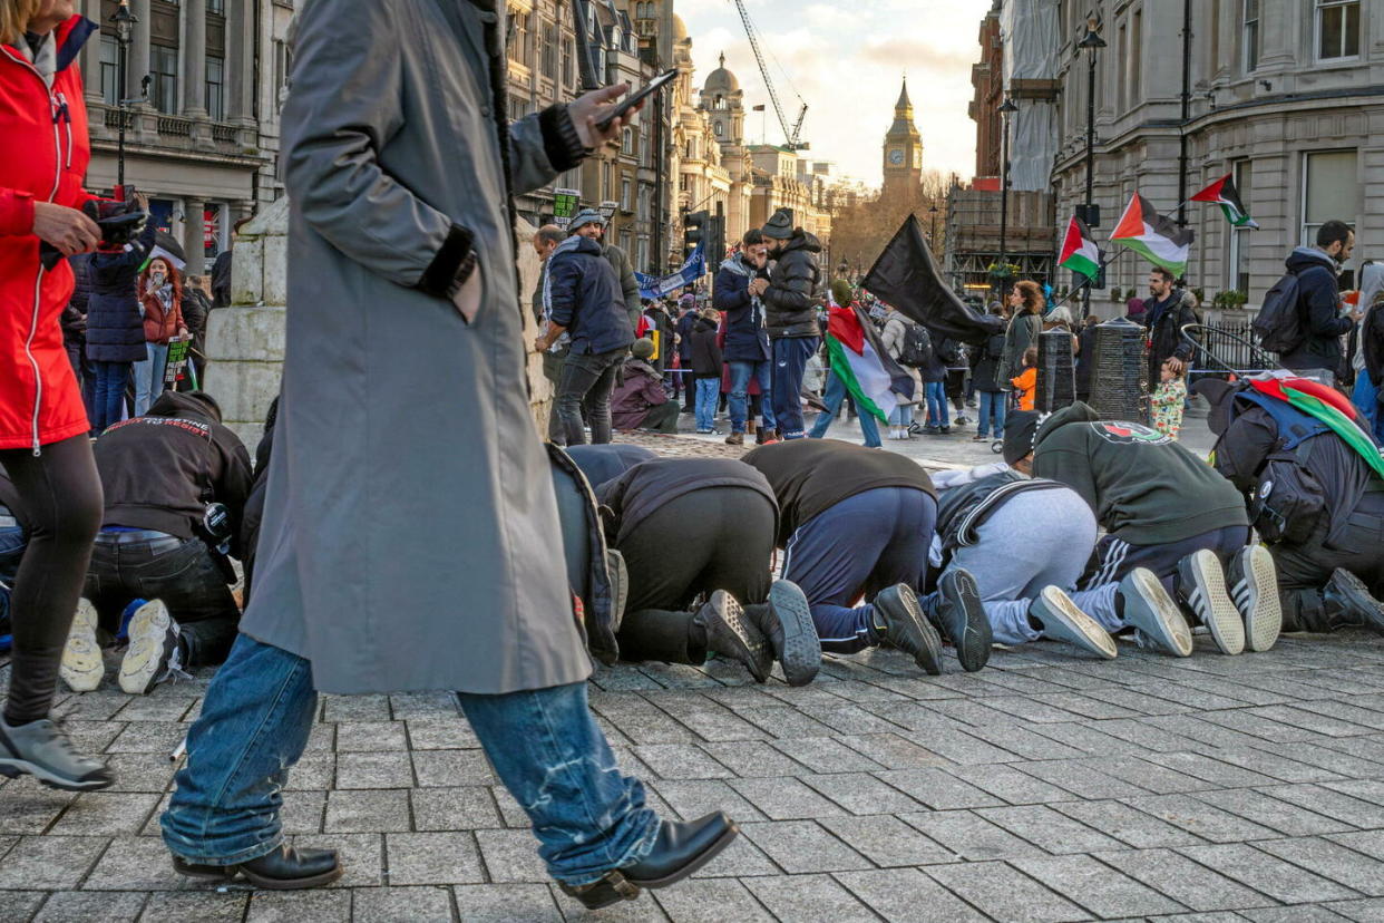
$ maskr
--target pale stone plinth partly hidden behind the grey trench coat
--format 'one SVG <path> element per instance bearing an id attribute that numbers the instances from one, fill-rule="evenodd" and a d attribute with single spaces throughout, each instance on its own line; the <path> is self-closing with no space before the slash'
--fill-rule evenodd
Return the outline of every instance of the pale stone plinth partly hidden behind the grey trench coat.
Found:
<path id="1" fill-rule="evenodd" d="M 520 241 L 533 226 L 519 221 Z M 523 343 L 534 425 L 547 439 L 552 389 L 543 376 L 543 357 L 531 347 L 538 336 L 529 310 L 541 266 L 531 246 L 519 248 Z M 280 198 L 241 228 L 231 256 L 231 306 L 212 311 L 206 331 L 203 386 L 221 404 L 221 417 L 253 454 L 264 415 L 278 394 L 284 371 L 284 324 L 288 303 L 288 198 Z"/>

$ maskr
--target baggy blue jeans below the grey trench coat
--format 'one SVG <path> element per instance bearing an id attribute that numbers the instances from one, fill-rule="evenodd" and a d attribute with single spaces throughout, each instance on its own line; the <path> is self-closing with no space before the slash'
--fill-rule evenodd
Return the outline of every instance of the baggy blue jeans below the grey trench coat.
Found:
<path id="1" fill-rule="evenodd" d="M 529 815 L 554 879 L 590 884 L 649 854 L 659 818 L 644 786 L 616 765 L 587 707 L 587 684 L 457 699 Z M 187 765 L 161 818 L 169 851 L 237 865 L 277 850 L 281 792 L 316 713 L 311 664 L 241 635 L 188 733 Z"/>

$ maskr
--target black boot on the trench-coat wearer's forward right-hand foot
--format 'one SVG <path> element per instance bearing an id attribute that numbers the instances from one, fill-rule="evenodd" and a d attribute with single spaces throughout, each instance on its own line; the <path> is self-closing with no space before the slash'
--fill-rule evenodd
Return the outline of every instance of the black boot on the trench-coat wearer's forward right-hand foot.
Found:
<path id="1" fill-rule="evenodd" d="M 725 814 L 717 811 L 696 821 L 663 821 L 659 839 L 644 859 L 623 869 L 613 869 L 599 881 L 559 887 L 581 901 L 588 911 L 632 901 L 641 888 L 666 888 L 688 877 L 731 844 L 740 830 Z"/>

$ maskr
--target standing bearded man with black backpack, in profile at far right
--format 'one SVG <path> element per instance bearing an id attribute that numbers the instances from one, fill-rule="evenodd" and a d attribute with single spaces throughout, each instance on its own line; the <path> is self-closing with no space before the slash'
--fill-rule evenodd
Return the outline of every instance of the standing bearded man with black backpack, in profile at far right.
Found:
<path id="1" fill-rule="evenodd" d="M 1295 372 L 1326 369 L 1340 378 L 1345 374 L 1345 354 L 1341 338 L 1360 320 L 1356 310 L 1341 314 L 1341 289 L 1337 270 L 1351 259 L 1355 231 L 1345 221 L 1327 221 L 1316 231 L 1316 246 L 1298 246 L 1284 264 L 1298 281 L 1298 321 L 1306 338 L 1294 349 L 1282 353 L 1279 363 Z M 1367 306 L 1362 306 L 1367 307 Z"/>

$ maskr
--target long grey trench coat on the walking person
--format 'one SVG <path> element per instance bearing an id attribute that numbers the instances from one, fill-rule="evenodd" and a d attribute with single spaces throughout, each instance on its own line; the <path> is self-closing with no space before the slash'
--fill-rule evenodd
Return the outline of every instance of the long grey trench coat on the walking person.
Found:
<path id="1" fill-rule="evenodd" d="M 507 183 L 504 10 L 483 6 L 300 11 L 288 345 L 241 630 L 310 660 L 324 692 L 504 693 L 591 670 L 529 415 L 511 220 L 515 190 L 556 176 L 549 151 L 576 162 L 580 145 L 520 119 Z M 469 325 L 417 288 L 454 227 L 482 274 Z"/>

